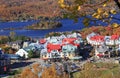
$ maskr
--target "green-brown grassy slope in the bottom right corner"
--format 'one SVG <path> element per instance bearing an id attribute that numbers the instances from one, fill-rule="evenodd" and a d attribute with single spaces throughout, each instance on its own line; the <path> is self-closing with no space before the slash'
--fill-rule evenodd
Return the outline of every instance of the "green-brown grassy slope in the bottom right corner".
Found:
<path id="1" fill-rule="evenodd" d="M 74 78 L 120 78 L 120 65 L 113 63 L 86 63 Z"/>

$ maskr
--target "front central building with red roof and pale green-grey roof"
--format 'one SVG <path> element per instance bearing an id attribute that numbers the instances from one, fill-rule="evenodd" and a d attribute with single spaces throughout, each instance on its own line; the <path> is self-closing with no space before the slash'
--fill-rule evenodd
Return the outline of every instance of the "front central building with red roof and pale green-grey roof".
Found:
<path id="1" fill-rule="evenodd" d="M 68 57 L 72 59 L 75 56 L 75 52 L 77 51 L 77 46 L 73 45 L 56 45 L 56 44 L 48 44 L 47 49 L 41 50 L 41 58 L 64 58 Z"/>

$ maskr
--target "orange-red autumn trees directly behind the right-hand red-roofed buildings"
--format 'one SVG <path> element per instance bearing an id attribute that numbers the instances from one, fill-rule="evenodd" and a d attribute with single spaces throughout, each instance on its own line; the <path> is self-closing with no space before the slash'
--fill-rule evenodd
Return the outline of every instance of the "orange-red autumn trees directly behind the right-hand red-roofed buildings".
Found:
<path id="1" fill-rule="evenodd" d="M 84 28 L 80 31 L 83 39 L 92 32 L 98 33 L 103 36 L 111 36 L 111 35 L 120 35 L 120 26 L 113 27 L 113 26 L 92 26 L 90 28 Z"/>

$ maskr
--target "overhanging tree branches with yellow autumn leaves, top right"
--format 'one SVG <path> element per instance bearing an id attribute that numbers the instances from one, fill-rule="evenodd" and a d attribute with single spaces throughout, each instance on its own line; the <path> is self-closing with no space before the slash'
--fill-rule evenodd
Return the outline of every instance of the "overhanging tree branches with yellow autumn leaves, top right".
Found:
<path id="1" fill-rule="evenodd" d="M 64 10 L 64 17 L 72 18 L 75 22 L 77 18 L 83 17 L 85 26 L 89 26 L 90 22 L 96 24 L 99 20 L 107 24 L 112 19 L 120 20 L 113 17 L 120 11 L 120 0 L 59 0 L 58 3 Z"/>

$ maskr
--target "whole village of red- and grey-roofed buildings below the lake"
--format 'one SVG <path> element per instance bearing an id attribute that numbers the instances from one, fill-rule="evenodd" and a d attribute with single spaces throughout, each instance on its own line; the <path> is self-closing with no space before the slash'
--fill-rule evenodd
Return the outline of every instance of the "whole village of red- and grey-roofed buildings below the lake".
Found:
<path id="1" fill-rule="evenodd" d="M 96 33 L 91 33 L 86 36 L 87 43 L 94 46 L 95 56 L 107 56 L 110 57 L 111 52 L 120 50 L 120 36 L 101 36 Z M 11 43 L 9 43 L 11 44 Z M 16 55 L 29 58 L 30 51 L 33 54 L 40 55 L 42 59 L 50 58 L 64 58 L 69 59 L 79 58 L 80 48 L 83 46 L 80 33 L 71 33 L 67 35 L 51 36 L 47 38 L 39 39 L 37 42 L 26 41 L 20 48 L 21 41 L 11 44 L 13 48 L 18 49 Z"/>

